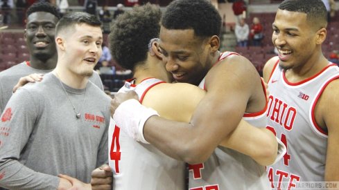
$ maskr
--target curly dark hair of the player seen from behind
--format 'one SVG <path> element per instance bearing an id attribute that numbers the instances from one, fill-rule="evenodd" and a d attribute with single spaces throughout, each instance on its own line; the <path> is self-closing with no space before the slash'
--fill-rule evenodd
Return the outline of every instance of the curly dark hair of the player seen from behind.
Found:
<path id="1" fill-rule="evenodd" d="M 146 3 L 120 15 L 109 35 L 114 60 L 123 68 L 145 61 L 150 39 L 159 37 L 162 12 L 159 6 Z"/>

